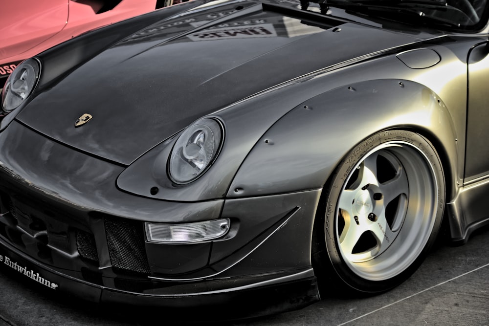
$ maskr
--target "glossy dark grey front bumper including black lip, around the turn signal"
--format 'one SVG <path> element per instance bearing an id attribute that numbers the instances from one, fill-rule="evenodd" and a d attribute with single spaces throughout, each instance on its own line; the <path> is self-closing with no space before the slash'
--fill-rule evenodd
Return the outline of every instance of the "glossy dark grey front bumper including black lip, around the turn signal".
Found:
<path id="1" fill-rule="evenodd" d="M 117 189 L 124 167 L 15 121 L 1 133 L 0 146 L 0 265 L 46 291 L 167 307 L 233 305 L 260 296 L 266 300 L 251 302 L 261 307 L 247 304 L 255 315 L 319 299 L 311 232 L 320 190 L 168 202 Z M 144 221 L 219 217 L 231 219 L 231 237 L 179 245 L 144 237 Z"/>

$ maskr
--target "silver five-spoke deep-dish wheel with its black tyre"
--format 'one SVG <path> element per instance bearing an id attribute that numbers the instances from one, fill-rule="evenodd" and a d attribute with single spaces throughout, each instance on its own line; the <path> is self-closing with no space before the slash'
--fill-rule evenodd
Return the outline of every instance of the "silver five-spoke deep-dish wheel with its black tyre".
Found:
<path id="1" fill-rule="evenodd" d="M 345 156 L 322 199 L 313 243 L 320 274 L 343 289 L 383 292 L 406 280 L 436 239 L 445 201 L 440 157 L 420 134 L 379 132 Z"/>

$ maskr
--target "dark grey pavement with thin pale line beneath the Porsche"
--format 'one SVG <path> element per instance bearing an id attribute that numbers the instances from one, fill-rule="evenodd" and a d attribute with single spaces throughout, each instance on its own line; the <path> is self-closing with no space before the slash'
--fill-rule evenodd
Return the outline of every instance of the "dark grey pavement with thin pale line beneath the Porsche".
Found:
<path id="1" fill-rule="evenodd" d="M 0 326 L 185 325 L 178 315 L 105 311 L 97 305 L 52 296 L 1 270 Z M 260 298 L 257 298 L 260 300 Z M 244 306 L 243 309 L 246 309 Z M 189 311 L 189 315 L 192 311 Z M 199 319 L 199 316 L 193 316 Z M 196 318 L 197 317 L 197 318 Z M 212 316 L 203 315 L 208 320 Z M 198 323 L 216 325 L 215 322 Z M 489 228 L 467 244 L 438 244 L 405 283 L 382 295 L 339 299 L 333 293 L 300 310 L 222 325 L 489 325 Z"/>

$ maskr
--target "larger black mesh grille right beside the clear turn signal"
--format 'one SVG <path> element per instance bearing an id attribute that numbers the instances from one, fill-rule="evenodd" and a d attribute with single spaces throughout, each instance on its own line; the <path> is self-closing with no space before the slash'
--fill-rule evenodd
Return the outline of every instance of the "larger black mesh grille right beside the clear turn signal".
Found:
<path id="1" fill-rule="evenodd" d="M 104 223 L 112 266 L 138 273 L 149 273 L 142 222 L 105 217 Z"/>

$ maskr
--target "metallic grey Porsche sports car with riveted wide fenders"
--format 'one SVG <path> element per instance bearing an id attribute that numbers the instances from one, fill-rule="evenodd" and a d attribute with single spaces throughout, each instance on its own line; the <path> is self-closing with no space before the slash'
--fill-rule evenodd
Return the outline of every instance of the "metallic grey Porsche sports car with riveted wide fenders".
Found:
<path id="1" fill-rule="evenodd" d="M 489 193 L 486 0 L 195 0 L 19 65 L 0 266 L 258 313 L 406 280 Z M 260 298 L 260 300 L 256 300 Z"/>

